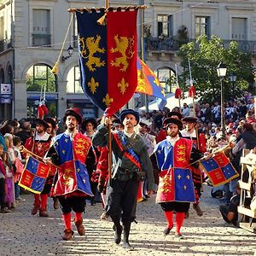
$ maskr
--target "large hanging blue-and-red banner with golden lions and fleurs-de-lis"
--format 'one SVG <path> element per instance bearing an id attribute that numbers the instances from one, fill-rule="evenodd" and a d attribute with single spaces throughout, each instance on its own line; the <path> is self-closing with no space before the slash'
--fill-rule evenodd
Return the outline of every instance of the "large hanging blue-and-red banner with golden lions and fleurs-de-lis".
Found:
<path id="1" fill-rule="evenodd" d="M 110 116 L 137 88 L 137 10 L 108 11 L 105 26 L 97 24 L 102 12 L 76 15 L 84 94 Z"/>

